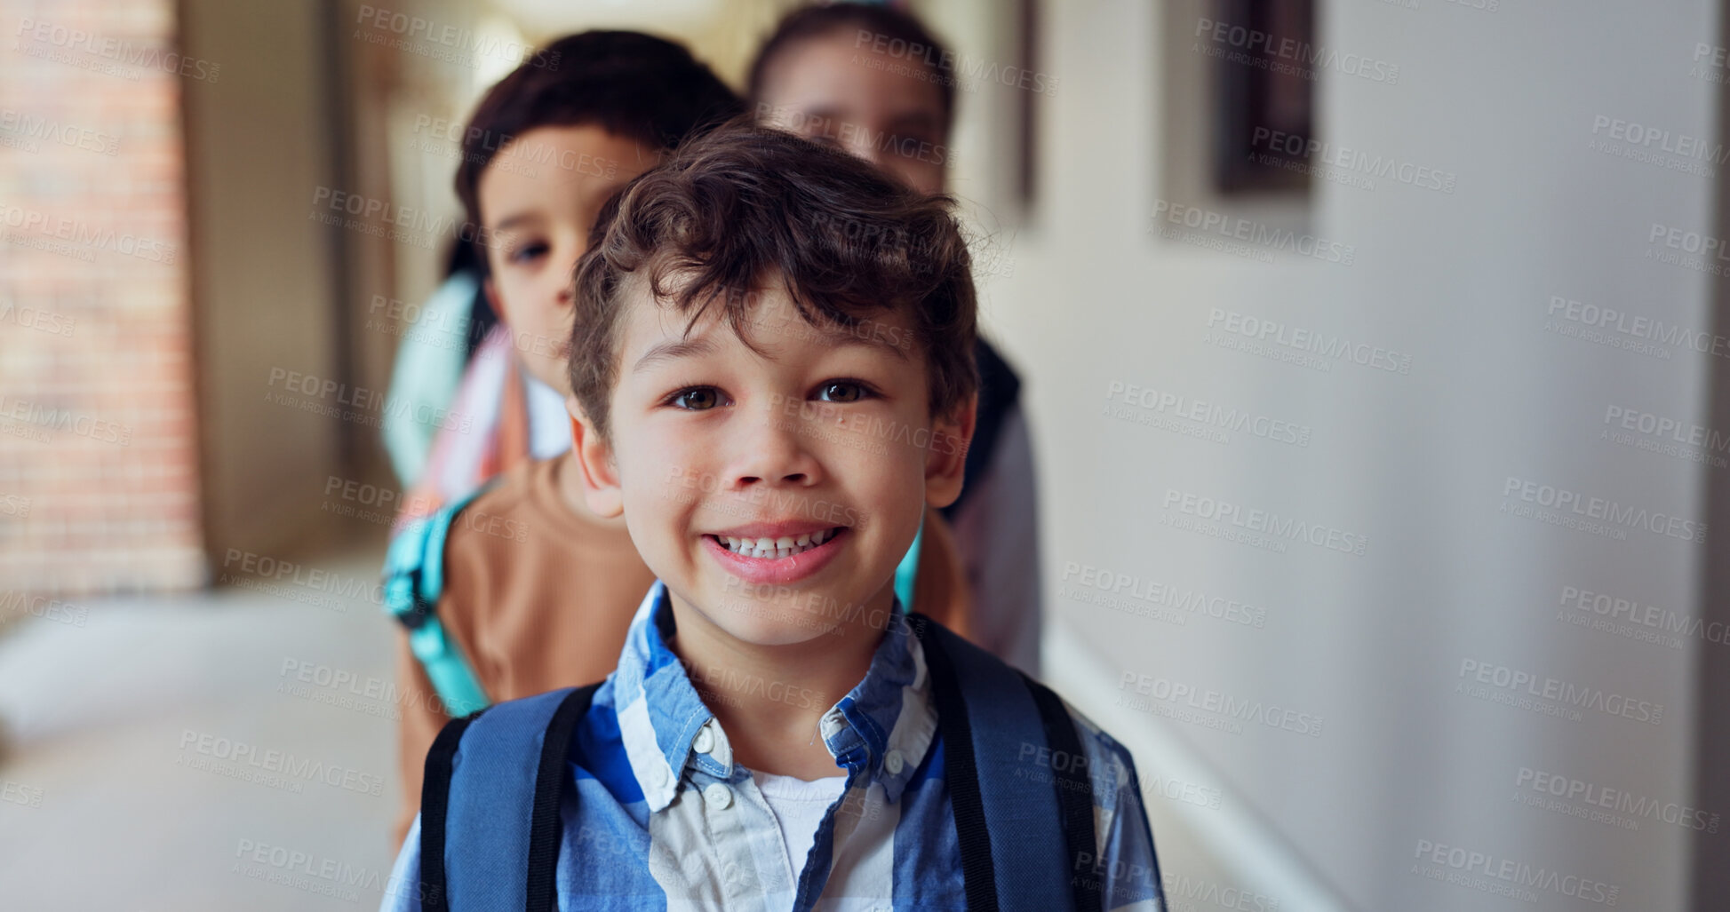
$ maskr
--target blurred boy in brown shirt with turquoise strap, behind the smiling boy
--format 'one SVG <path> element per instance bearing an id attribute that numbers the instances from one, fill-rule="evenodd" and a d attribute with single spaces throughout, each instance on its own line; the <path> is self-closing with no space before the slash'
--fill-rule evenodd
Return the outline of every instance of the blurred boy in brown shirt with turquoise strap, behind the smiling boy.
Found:
<path id="1" fill-rule="evenodd" d="M 458 500 L 432 523 L 412 526 L 393 545 L 389 578 L 405 583 L 393 585 L 393 595 L 420 590 L 419 604 L 391 599 L 408 626 L 398 647 L 405 798 L 398 841 L 420 803 L 424 760 L 450 720 L 446 710 L 464 715 L 479 704 L 452 687 L 439 687 L 434 699 L 432 675 L 450 668 L 417 661 L 439 656 L 426 645 L 429 621 L 446 633 L 446 649 L 467 659 L 481 697 L 517 699 L 612 670 L 631 613 L 654 581 L 625 523 L 593 514 L 583 498 L 564 408 L 571 272 L 619 187 L 678 142 L 737 114 L 740 104 L 690 52 L 649 35 L 586 31 L 554 42 L 552 54 L 562 61 L 557 71 L 522 66 L 483 97 L 464 130 L 457 192 L 495 241 L 486 249 L 484 287 L 503 336 L 486 344 L 505 343 L 510 363 L 497 367 L 521 372 L 522 388 L 550 391 L 564 417 L 554 427 L 564 445 L 550 459 L 503 472 L 467 505 Z M 507 391 L 517 388 L 505 384 Z M 529 421 L 531 429 L 535 424 Z M 464 434 L 448 441 L 481 443 Z M 680 497 L 697 497 L 713 483 L 697 474 L 670 481 L 670 493 Z M 749 500 L 739 505 L 770 509 Z M 448 519 L 441 547 L 434 531 L 439 519 Z M 427 578 L 439 580 L 441 592 L 431 592 Z M 936 511 L 926 517 L 917 575 L 908 583 L 917 609 L 967 633 L 964 571 Z"/>

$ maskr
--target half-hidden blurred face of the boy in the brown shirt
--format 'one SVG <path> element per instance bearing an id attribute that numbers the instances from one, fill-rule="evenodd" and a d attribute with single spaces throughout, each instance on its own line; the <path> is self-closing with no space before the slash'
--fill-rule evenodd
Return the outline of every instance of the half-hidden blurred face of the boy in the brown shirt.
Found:
<path id="1" fill-rule="evenodd" d="M 571 270 L 600 206 L 656 163 L 656 151 L 600 126 L 541 126 L 512 138 L 476 196 L 491 275 L 486 298 L 535 379 L 571 391 Z"/>

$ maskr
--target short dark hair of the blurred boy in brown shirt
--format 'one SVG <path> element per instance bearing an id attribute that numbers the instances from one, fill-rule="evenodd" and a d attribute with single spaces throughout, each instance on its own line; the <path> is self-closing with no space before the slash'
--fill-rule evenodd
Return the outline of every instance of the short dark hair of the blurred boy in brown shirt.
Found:
<path id="1" fill-rule="evenodd" d="M 744 111 L 744 102 L 683 45 L 640 31 L 569 35 L 540 57 L 559 66 L 519 66 L 486 90 L 469 118 L 457 197 L 472 225 L 481 223 L 481 173 L 505 144 L 529 130 L 595 125 L 650 149 L 671 149 Z"/>

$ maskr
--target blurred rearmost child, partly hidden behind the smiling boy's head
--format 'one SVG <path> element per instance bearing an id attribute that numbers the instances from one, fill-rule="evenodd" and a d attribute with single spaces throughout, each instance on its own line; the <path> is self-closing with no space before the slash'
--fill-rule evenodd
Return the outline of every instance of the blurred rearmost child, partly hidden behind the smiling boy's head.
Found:
<path id="1" fill-rule="evenodd" d="M 920 50 L 901 57 L 877 50 L 896 43 Z M 761 123 L 837 145 L 915 190 L 938 194 L 955 123 L 955 73 L 941 66 L 952 59 L 908 12 L 868 3 L 799 7 L 763 42 L 747 93 Z M 983 336 L 974 358 L 979 426 L 967 485 L 943 516 L 976 611 L 969 639 L 1038 675 L 1038 504 L 1021 381 Z"/>

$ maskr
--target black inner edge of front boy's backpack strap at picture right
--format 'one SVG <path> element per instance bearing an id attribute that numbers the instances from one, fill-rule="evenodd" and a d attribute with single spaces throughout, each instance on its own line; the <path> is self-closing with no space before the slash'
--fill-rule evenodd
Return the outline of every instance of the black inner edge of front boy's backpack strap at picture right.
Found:
<path id="1" fill-rule="evenodd" d="M 984 800 L 979 794 L 979 768 L 974 763 L 972 725 L 967 703 L 955 680 L 955 666 L 931 630 L 929 618 L 913 616 L 913 633 L 924 647 L 931 671 L 931 701 L 938 710 L 938 734 L 943 737 L 943 780 L 955 812 L 955 836 L 962 853 L 962 884 L 969 912 L 996 912 L 996 870 L 991 864 L 991 832 L 986 829 Z"/>

